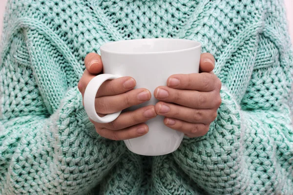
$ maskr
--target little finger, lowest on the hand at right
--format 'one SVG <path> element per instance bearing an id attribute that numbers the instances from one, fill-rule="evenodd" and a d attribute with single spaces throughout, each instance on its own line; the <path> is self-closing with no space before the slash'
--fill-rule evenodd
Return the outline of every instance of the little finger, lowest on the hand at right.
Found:
<path id="1" fill-rule="evenodd" d="M 187 134 L 188 137 L 204 136 L 209 131 L 209 125 L 203 123 L 190 123 L 175 118 L 166 117 L 164 119 L 164 124 L 171 129 Z"/>

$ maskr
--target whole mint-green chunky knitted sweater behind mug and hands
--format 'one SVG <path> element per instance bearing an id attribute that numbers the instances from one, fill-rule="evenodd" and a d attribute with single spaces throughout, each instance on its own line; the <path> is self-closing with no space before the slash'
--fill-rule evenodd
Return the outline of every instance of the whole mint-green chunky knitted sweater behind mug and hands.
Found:
<path id="1" fill-rule="evenodd" d="M 285 18 L 282 0 L 9 0 L 0 194 L 292 195 Z M 200 41 L 223 82 L 208 134 L 165 156 L 135 155 L 100 137 L 77 89 L 87 53 L 139 38 Z"/>

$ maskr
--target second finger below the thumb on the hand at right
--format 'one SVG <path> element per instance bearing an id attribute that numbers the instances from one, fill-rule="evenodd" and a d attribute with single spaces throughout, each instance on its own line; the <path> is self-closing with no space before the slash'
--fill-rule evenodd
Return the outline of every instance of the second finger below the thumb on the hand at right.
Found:
<path id="1" fill-rule="evenodd" d="M 160 86 L 155 89 L 154 96 L 164 102 L 172 102 L 196 109 L 218 108 L 222 103 L 219 92 L 217 91 L 198 92 Z"/>

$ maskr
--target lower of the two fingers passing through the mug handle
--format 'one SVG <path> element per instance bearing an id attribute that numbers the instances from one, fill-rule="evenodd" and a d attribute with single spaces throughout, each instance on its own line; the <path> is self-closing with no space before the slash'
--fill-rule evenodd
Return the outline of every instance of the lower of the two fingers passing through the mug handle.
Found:
<path id="1" fill-rule="evenodd" d="M 109 114 L 124 110 L 130 106 L 148 101 L 151 93 L 147 89 L 134 89 L 116 96 L 104 96 L 95 99 L 97 113 Z"/>

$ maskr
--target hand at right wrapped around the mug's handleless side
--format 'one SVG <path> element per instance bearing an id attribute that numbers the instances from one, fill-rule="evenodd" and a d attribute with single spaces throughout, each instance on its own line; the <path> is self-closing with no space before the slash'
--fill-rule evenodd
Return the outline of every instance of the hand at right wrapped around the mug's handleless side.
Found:
<path id="1" fill-rule="evenodd" d="M 172 75 L 167 79 L 167 86 L 155 89 L 154 96 L 160 100 L 155 110 L 165 117 L 167 127 L 188 137 L 204 136 L 209 131 L 222 103 L 222 83 L 212 72 L 214 64 L 211 54 L 202 54 L 201 73 Z"/>

